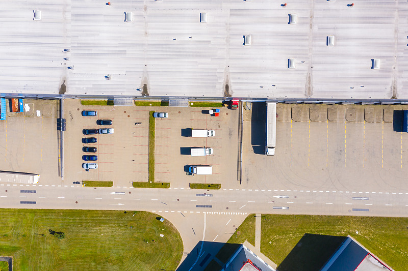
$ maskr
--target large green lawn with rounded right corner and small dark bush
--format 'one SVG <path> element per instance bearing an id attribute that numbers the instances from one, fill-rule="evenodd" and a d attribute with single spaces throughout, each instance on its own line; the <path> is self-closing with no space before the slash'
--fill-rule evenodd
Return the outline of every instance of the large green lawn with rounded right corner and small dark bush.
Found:
<path id="1" fill-rule="evenodd" d="M 183 254 L 175 227 L 148 212 L 0 209 L 0 214 L 0 255 L 13 256 L 14 270 L 175 270 Z M 49 229 L 66 237 L 57 239 Z"/>

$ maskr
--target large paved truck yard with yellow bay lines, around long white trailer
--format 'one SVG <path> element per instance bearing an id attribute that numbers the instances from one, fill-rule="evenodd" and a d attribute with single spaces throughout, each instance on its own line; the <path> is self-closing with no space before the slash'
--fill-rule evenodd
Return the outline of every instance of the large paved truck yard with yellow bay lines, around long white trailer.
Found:
<path id="1" fill-rule="evenodd" d="M 253 103 L 244 111 L 244 186 L 408 191 L 408 134 L 400 132 L 406 106 L 278 104 L 276 150 L 269 157 L 264 107 Z"/>

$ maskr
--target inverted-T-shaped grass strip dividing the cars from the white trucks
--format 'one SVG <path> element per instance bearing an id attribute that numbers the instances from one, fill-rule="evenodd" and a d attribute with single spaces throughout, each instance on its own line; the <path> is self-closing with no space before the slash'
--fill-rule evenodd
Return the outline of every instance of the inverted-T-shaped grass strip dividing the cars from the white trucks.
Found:
<path id="1" fill-rule="evenodd" d="M 153 117 L 155 111 L 149 111 L 149 172 L 148 182 L 133 182 L 136 188 L 170 188 L 170 183 L 155 183 L 155 137 L 156 118 Z"/>

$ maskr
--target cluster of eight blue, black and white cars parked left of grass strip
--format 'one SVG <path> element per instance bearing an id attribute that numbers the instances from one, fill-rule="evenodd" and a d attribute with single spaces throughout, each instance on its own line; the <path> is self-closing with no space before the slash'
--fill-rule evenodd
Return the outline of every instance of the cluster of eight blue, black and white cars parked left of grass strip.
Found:
<path id="1" fill-rule="evenodd" d="M 88 111 L 84 110 L 82 111 L 83 116 L 97 116 L 96 111 Z M 112 125 L 111 119 L 98 119 L 96 121 L 97 125 Z M 83 129 L 82 133 L 84 135 L 96 135 L 96 134 L 113 134 L 115 131 L 113 128 L 100 128 L 100 129 Z M 82 138 L 82 143 L 84 144 L 89 144 L 89 143 L 96 143 L 97 139 L 96 137 L 84 137 Z M 96 153 L 97 148 L 96 147 L 89 147 L 89 146 L 83 146 L 82 151 L 84 153 Z M 97 161 L 98 157 L 96 155 L 83 155 L 82 160 L 84 161 Z M 96 169 L 98 168 L 98 164 L 96 163 L 83 163 L 82 168 L 84 168 L 86 171 L 89 171 L 89 169 Z"/>

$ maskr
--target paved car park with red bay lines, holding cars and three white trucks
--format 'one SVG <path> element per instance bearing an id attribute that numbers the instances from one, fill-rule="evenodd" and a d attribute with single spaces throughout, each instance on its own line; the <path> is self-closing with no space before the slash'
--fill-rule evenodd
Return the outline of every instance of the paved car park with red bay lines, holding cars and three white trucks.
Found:
<path id="1" fill-rule="evenodd" d="M 155 182 L 169 182 L 172 188 L 188 188 L 189 183 L 236 183 L 238 111 L 221 108 L 218 117 L 195 107 L 83 106 L 80 100 L 64 103 L 67 129 L 65 142 L 65 179 L 113 180 L 114 186 L 129 187 L 132 182 L 148 180 L 149 110 L 168 112 L 168 118 L 156 119 Z M 97 116 L 81 115 L 95 110 Z M 97 119 L 111 119 L 114 134 L 83 135 L 83 129 L 101 128 Z M 135 125 L 141 123 L 140 125 Z M 212 129 L 215 137 L 191 138 L 187 128 Z M 83 144 L 84 137 L 96 137 L 96 143 Z M 82 168 L 82 147 L 95 146 L 98 168 Z M 191 157 L 189 147 L 212 147 L 214 155 Z M 187 173 L 189 165 L 213 165 L 212 175 Z"/>

